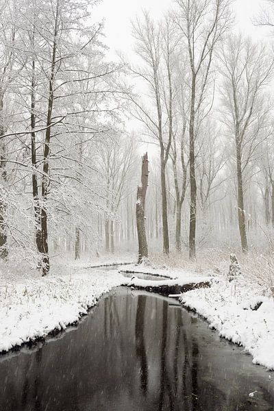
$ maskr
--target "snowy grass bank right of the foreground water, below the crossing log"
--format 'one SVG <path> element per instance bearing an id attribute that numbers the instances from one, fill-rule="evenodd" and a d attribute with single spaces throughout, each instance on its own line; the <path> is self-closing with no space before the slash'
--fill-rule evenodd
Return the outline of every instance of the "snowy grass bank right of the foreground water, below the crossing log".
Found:
<path id="1" fill-rule="evenodd" d="M 274 300 L 247 286 L 245 279 L 224 279 L 211 288 L 191 290 L 182 304 L 207 319 L 220 336 L 242 345 L 253 363 L 274 370 Z"/>

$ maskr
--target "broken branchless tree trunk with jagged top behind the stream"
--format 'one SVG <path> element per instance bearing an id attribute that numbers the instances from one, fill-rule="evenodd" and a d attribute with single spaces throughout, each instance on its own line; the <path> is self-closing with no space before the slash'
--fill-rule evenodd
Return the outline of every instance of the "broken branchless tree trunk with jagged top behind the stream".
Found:
<path id="1" fill-rule="evenodd" d="M 142 261 L 143 258 L 148 257 L 147 250 L 147 236 L 145 230 L 145 197 L 147 194 L 147 186 L 149 182 L 149 160 L 147 158 L 147 153 L 142 157 L 142 177 L 141 184 L 137 188 L 137 201 L 136 201 L 136 224 L 138 232 L 138 263 Z"/>

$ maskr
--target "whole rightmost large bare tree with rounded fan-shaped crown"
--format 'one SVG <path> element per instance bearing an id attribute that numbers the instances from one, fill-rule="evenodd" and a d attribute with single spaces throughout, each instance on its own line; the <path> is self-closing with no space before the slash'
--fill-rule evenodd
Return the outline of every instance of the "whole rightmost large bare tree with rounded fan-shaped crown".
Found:
<path id="1" fill-rule="evenodd" d="M 234 135 L 238 192 L 238 227 L 242 251 L 247 252 L 244 187 L 242 173 L 257 147 L 258 113 L 262 106 L 262 90 L 269 83 L 273 59 L 264 45 L 253 44 L 249 38 L 231 36 L 223 45 L 223 89 L 221 94 L 226 108 L 225 121 Z M 255 132 L 253 127 L 255 127 Z M 249 144 L 247 158 L 245 149 Z"/>

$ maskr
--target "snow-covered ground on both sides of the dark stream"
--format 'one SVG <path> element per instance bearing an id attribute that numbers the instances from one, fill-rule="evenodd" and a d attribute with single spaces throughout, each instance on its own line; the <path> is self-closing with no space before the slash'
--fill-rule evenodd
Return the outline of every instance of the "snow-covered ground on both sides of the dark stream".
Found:
<path id="1" fill-rule="evenodd" d="M 7 271 L 0 267 L 0 351 L 8 351 L 29 340 L 45 337 L 54 329 L 65 329 L 87 313 L 99 297 L 114 286 L 154 286 L 206 282 L 212 277 L 195 270 L 169 269 L 131 264 L 123 271 L 160 275 L 157 282 L 123 277 L 116 269 L 89 269 L 111 262 L 130 262 L 132 256 L 112 256 L 97 261 L 55 263 L 48 277 L 24 267 Z M 18 274 L 16 274 L 18 273 Z M 22 274 L 23 273 L 23 274 Z M 212 273 L 214 275 L 214 273 Z M 134 275 L 134 274 L 133 274 Z M 155 279 L 157 279 L 155 277 Z M 224 275 L 214 277 L 211 288 L 185 292 L 180 301 L 207 319 L 220 336 L 244 347 L 253 362 L 274 369 L 274 300 L 262 288 L 240 276 L 228 282 Z"/>

